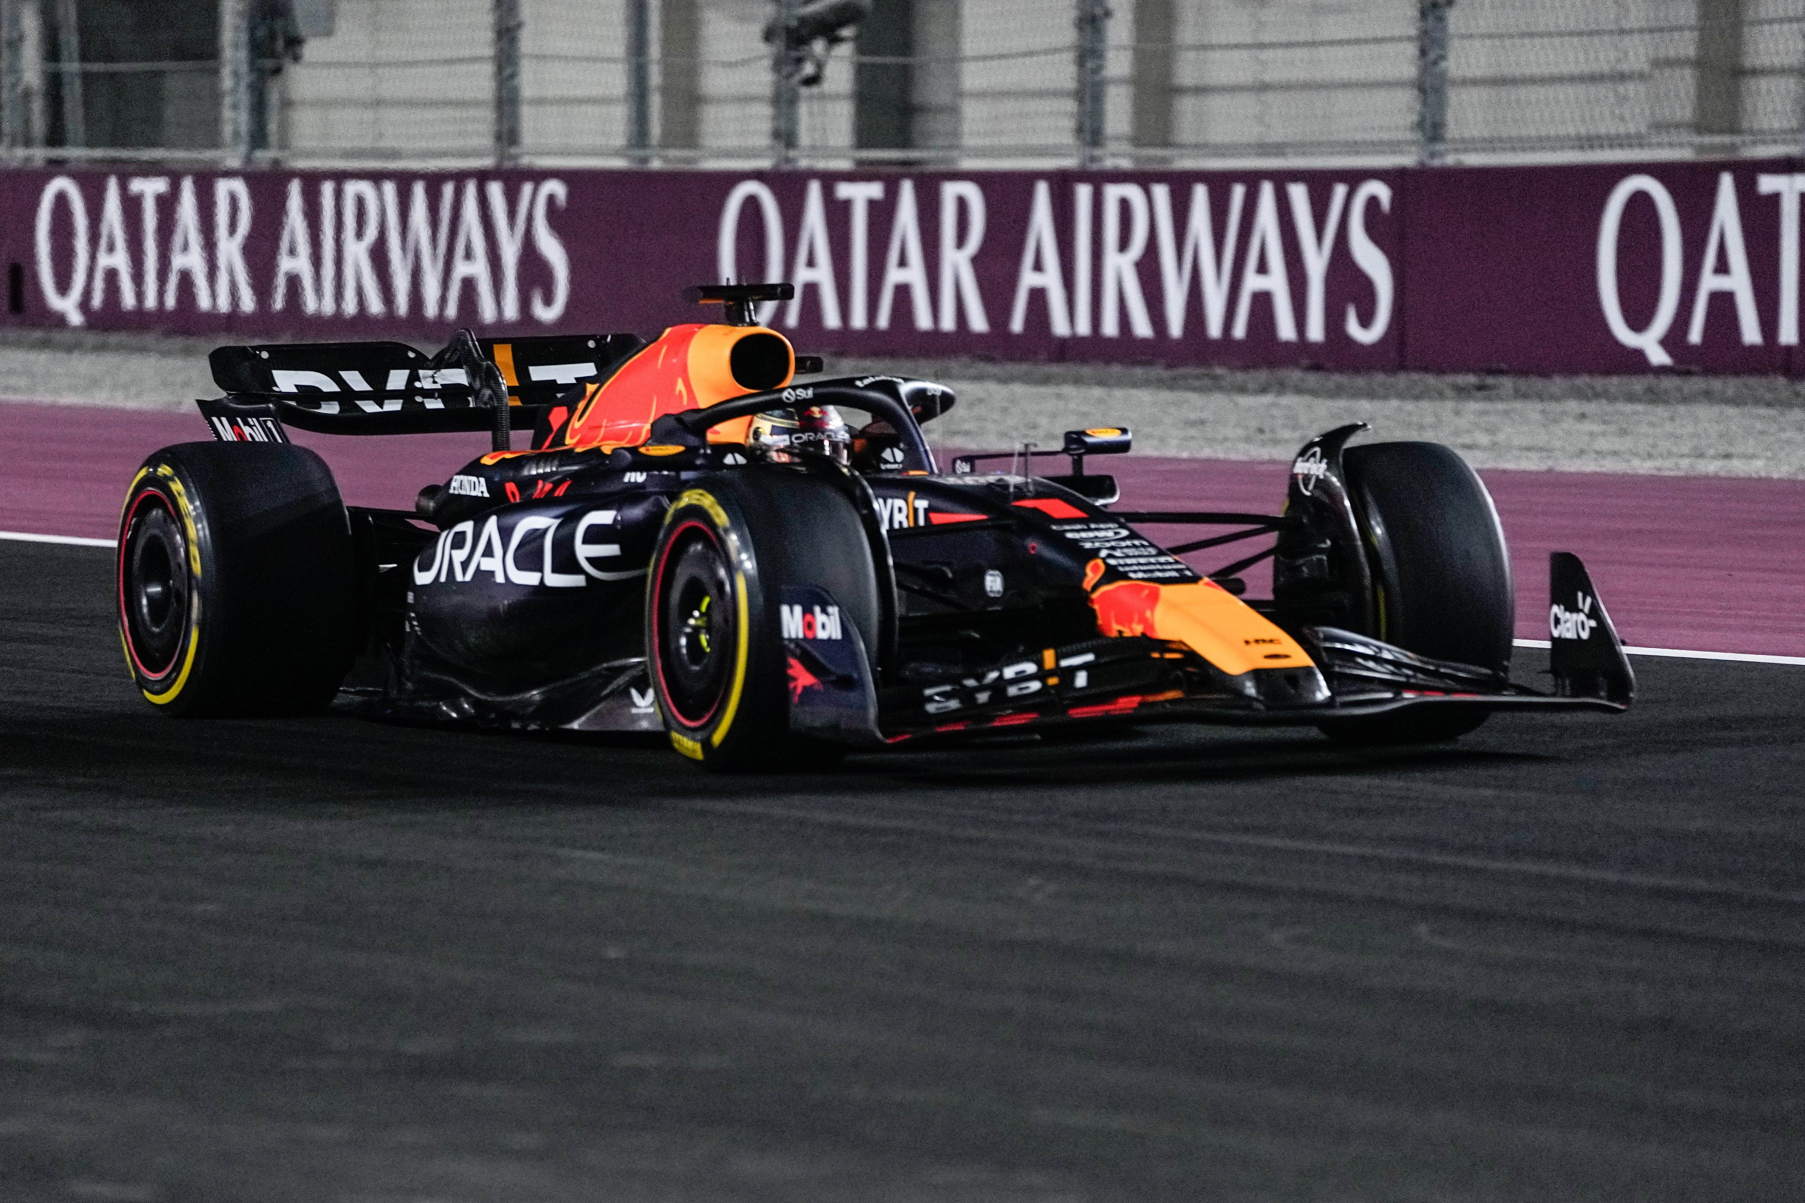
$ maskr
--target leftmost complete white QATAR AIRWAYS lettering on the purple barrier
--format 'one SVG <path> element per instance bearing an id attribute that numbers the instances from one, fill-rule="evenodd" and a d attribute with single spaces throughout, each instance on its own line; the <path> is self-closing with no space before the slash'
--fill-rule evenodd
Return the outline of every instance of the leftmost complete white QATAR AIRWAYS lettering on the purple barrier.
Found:
<path id="1" fill-rule="evenodd" d="M 560 179 L 56 175 L 38 195 L 43 303 L 101 312 L 563 317 Z"/>

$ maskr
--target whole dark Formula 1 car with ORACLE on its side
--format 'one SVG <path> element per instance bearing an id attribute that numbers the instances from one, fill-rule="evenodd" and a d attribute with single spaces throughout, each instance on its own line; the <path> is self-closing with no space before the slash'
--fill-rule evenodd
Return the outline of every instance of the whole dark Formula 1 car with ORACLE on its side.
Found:
<path id="1" fill-rule="evenodd" d="M 119 525 L 119 622 L 168 714 L 664 730 L 713 768 L 1085 723 L 1301 723 L 1442 741 L 1493 711 L 1623 711 L 1634 678 L 1556 554 L 1552 691 L 1509 676 L 1511 566 L 1448 447 L 1301 449 L 1282 516 L 1123 512 L 1119 427 L 942 473 L 926 381 L 819 373 L 756 325 L 789 285 L 695 290 L 726 321 L 634 335 L 222 346 L 215 442 L 164 447 Z M 514 449 L 516 415 L 532 422 Z M 847 422 L 852 415 L 854 422 Z M 415 510 L 347 507 L 285 427 L 491 431 Z M 1009 471 L 980 471 L 1002 458 Z M 1069 471 L 1040 474 L 1043 456 Z M 1226 534 L 1159 546 L 1139 525 Z M 1213 572 L 1184 554 L 1273 545 Z M 1273 597 L 1244 601 L 1273 559 Z"/>

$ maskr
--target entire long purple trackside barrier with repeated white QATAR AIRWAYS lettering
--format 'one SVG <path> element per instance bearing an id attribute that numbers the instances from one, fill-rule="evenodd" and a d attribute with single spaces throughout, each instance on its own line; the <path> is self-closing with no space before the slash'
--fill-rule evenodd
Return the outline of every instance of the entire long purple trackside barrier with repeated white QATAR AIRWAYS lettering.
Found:
<path id="1" fill-rule="evenodd" d="M 1392 171 L 0 173 L 4 321 L 652 334 L 791 280 L 805 352 L 1805 372 L 1794 161 Z"/>

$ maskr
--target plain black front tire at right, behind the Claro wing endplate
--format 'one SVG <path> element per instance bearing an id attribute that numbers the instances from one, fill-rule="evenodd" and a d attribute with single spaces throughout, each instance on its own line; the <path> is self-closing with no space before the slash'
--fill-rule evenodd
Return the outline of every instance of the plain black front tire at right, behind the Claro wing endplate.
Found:
<path id="1" fill-rule="evenodd" d="M 1507 673 L 1516 619 L 1511 556 L 1484 482 L 1431 442 L 1350 447 L 1343 460 L 1379 593 L 1372 635 L 1435 660 Z M 1401 711 L 1323 723 L 1345 743 L 1440 743 L 1484 711 Z"/>

